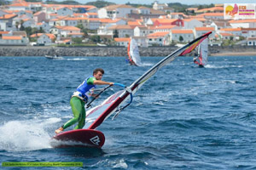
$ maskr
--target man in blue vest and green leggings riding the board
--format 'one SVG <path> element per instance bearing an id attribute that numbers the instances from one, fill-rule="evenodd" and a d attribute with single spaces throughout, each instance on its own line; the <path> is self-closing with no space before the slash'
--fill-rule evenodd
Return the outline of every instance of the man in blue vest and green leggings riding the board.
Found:
<path id="1" fill-rule="evenodd" d="M 84 105 L 87 103 L 90 96 L 95 97 L 96 94 L 93 94 L 93 90 L 96 88 L 96 85 L 113 85 L 113 82 L 104 82 L 102 81 L 102 76 L 104 70 L 98 68 L 93 71 L 92 77 L 87 77 L 82 84 L 79 85 L 77 90 L 73 93 L 70 99 L 70 105 L 73 111 L 73 118 L 67 121 L 60 128 L 55 130 L 55 133 L 61 133 L 67 127 L 72 126 L 78 122 L 78 125 L 74 129 L 81 129 L 85 124 L 85 109 Z"/>

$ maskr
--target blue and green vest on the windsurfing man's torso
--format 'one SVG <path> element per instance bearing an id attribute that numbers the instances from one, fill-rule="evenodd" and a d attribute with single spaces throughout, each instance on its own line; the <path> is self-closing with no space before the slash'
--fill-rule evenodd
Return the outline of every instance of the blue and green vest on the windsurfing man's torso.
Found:
<path id="1" fill-rule="evenodd" d="M 87 77 L 84 82 L 82 82 L 79 87 L 77 88 L 77 91 L 73 93 L 72 97 L 78 97 L 79 99 L 84 100 L 86 103 L 88 99 L 90 98 L 91 94 L 93 94 L 94 89 L 96 88 L 96 85 L 93 84 L 93 82 L 96 80 L 95 77 Z"/>

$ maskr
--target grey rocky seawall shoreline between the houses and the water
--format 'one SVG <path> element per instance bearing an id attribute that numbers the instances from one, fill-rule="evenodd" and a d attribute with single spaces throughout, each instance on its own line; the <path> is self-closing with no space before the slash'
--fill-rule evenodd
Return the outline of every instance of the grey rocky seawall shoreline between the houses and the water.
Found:
<path id="1" fill-rule="evenodd" d="M 148 47 L 139 48 L 141 56 L 166 56 L 175 51 L 177 47 Z M 125 47 L 20 47 L 20 46 L 1 46 L 0 56 L 126 56 L 127 48 Z M 189 54 L 194 55 L 194 54 Z M 230 46 L 218 47 L 209 46 L 210 56 L 256 56 L 256 47 L 247 46 Z"/>

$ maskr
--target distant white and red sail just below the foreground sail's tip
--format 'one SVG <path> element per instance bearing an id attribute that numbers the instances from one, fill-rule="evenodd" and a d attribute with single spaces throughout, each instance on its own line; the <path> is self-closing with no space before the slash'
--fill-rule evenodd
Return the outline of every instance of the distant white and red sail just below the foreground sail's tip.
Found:
<path id="1" fill-rule="evenodd" d="M 199 60 L 199 61 L 198 61 Z M 198 47 L 198 57 L 194 59 L 194 63 L 197 65 L 207 65 L 208 61 L 208 40 L 205 39 Z"/>

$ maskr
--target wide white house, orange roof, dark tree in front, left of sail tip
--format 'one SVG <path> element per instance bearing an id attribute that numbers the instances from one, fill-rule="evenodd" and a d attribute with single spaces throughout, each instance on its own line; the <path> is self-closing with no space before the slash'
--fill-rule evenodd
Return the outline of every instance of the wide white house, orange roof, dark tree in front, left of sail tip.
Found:
<path id="1" fill-rule="evenodd" d="M 170 32 L 172 42 L 191 42 L 194 38 L 193 30 L 172 30 Z"/>

